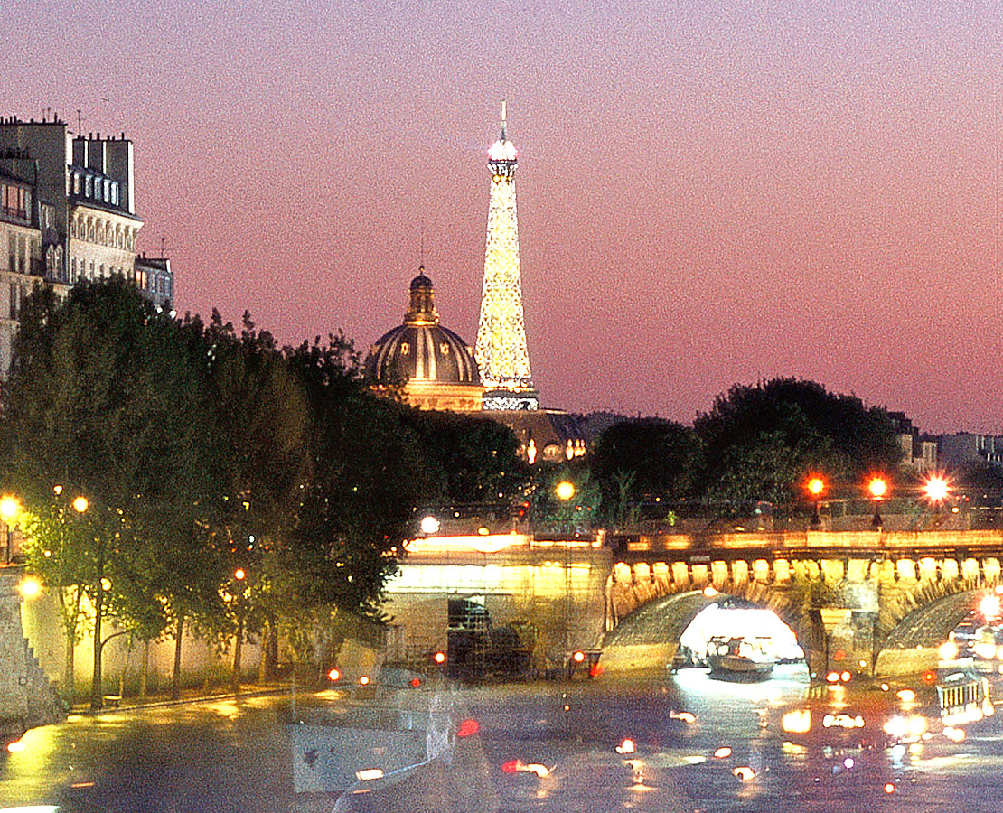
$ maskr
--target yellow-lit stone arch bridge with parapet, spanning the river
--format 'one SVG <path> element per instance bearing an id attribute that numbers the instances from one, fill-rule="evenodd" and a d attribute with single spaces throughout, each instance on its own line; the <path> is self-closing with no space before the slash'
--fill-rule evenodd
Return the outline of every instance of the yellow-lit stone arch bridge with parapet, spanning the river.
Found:
<path id="1" fill-rule="evenodd" d="M 774 611 L 816 675 L 935 668 L 980 594 L 1003 591 L 1003 532 L 807 531 L 624 540 L 606 584 L 604 660 L 671 660 L 704 606 L 735 596 Z"/>

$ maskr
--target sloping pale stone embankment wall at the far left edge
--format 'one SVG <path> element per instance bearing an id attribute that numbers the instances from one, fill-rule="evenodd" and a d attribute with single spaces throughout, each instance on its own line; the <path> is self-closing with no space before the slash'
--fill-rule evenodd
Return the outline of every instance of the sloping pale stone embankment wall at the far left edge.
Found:
<path id="1" fill-rule="evenodd" d="M 21 627 L 20 567 L 0 568 L 0 730 L 28 729 L 66 716 Z"/>

